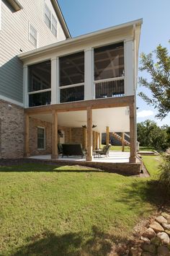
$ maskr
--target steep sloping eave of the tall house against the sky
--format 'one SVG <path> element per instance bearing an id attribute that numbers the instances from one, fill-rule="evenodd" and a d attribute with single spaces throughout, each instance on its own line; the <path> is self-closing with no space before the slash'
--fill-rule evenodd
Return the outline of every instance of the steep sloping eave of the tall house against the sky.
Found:
<path id="1" fill-rule="evenodd" d="M 59 21 L 61 22 L 61 27 L 63 28 L 63 32 L 66 35 L 66 38 L 71 38 L 71 33 L 68 30 L 66 20 L 63 17 L 63 13 L 61 12 L 61 7 L 59 6 L 58 1 L 51 0 L 51 3 L 53 4 L 53 8 L 55 9 Z"/>

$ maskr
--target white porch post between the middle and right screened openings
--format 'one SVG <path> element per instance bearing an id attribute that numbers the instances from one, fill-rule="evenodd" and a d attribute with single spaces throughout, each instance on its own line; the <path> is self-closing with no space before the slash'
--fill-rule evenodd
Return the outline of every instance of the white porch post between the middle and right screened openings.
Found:
<path id="1" fill-rule="evenodd" d="M 84 76 L 84 100 L 93 100 L 94 95 L 94 50 L 84 50 L 85 76 Z"/>

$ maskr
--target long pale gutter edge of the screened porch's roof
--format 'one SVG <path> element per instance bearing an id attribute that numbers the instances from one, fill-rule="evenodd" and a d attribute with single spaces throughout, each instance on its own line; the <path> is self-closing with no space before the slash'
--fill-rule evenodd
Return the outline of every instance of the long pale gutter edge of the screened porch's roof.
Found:
<path id="1" fill-rule="evenodd" d="M 142 25 L 142 23 L 143 23 L 143 19 L 136 19 L 132 22 L 123 23 L 121 25 L 116 25 L 114 27 L 108 27 L 104 30 L 97 30 L 95 32 L 91 32 L 89 34 L 81 35 L 79 37 L 74 37 L 74 38 L 70 38 L 68 40 L 60 41 L 58 43 L 53 43 L 51 45 L 46 45 L 46 46 L 43 46 L 41 48 L 37 48 L 35 50 L 30 50 L 27 53 L 20 53 L 18 55 L 18 57 L 20 59 L 24 59 L 24 58 L 27 58 L 27 57 L 35 56 L 39 53 L 45 53 L 45 52 L 48 52 L 49 50 L 53 50 L 56 47 L 60 47 L 60 46 L 63 46 L 63 45 L 68 45 L 68 44 L 71 44 L 71 43 L 78 43 L 79 41 L 90 39 L 90 38 L 95 37 L 97 35 L 102 35 L 103 33 L 114 32 L 115 30 L 120 30 L 122 28 L 133 27 L 134 25 L 140 26 L 140 25 Z"/>

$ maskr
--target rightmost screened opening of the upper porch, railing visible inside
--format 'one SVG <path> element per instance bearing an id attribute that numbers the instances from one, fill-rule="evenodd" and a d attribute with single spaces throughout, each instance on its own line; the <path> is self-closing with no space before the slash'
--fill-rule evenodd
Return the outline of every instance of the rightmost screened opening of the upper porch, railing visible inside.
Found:
<path id="1" fill-rule="evenodd" d="M 124 92 L 124 44 L 94 49 L 96 98 L 122 96 Z"/>

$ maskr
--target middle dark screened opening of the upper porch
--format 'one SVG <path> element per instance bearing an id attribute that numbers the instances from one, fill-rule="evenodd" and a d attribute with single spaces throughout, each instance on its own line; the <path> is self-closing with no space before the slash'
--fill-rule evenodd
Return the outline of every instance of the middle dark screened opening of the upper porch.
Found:
<path id="1" fill-rule="evenodd" d="M 59 58 L 61 102 L 84 100 L 84 52 Z"/>

